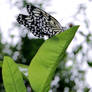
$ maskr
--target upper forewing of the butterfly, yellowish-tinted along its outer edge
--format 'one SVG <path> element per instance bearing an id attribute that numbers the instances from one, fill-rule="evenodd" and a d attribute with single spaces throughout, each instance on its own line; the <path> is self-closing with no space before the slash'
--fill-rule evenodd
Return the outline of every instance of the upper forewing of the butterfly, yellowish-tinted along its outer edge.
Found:
<path id="1" fill-rule="evenodd" d="M 53 29 L 53 31 L 55 33 L 64 31 L 63 27 L 60 25 L 60 23 L 54 17 L 52 17 L 50 14 L 46 13 L 44 10 L 42 10 L 38 7 L 35 7 L 34 5 L 31 4 L 31 5 L 27 5 L 27 11 L 28 11 L 29 15 L 32 15 L 32 12 L 43 15 L 47 19 L 49 25 L 51 26 L 51 28 Z"/>

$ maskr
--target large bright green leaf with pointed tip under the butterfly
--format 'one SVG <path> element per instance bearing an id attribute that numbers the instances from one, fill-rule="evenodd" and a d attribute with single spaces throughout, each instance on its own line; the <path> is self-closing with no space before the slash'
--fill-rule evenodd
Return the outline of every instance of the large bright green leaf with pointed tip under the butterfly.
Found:
<path id="1" fill-rule="evenodd" d="M 79 26 L 74 26 L 48 39 L 38 50 L 28 69 L 34 92 L 48 92 L 54 72 Z"/>

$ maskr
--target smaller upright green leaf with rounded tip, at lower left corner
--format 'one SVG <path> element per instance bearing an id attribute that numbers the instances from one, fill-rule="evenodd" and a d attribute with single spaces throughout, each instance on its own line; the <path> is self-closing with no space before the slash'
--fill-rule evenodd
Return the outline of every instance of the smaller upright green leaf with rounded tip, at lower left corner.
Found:
<path id="1" fill-rule="evenodd" d="M 26 92 L 21 72 L 8 56 L 4 57 L 2 75 L 6 92 Z"/>

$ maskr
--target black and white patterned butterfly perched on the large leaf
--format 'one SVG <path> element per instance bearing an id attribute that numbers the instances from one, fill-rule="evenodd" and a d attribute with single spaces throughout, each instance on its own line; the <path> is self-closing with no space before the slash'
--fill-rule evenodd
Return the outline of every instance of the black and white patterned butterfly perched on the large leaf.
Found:
<path id="1" fill-rule="evenodd" d="M 17 21 L 30 30 L 34 36 L 44 37 L 46 35 L 50 38 L 64 31 L 60 23 L 42 9 L 32 4 L 27 5 L 26 8 L 29 15 L 19 14 Z"/>

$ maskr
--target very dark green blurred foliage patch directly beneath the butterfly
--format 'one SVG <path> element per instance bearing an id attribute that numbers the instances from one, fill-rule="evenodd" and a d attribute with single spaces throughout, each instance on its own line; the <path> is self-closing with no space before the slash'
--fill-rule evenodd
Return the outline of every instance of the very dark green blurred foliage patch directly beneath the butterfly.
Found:
<path id="1" fill-rule="evenodd" d="M 25 59 L 26 64 L 30 64 L 30 61 L 35 56 L 36 52 L 38 51 L 39 47 L 44 42 L 44 39 L 28 39 L 28 37 L 22 38 L 22 45 L 20 54 L 23 56 L 20 59 Z M 23 60 L 20 60 L 23 61 Z"/>

